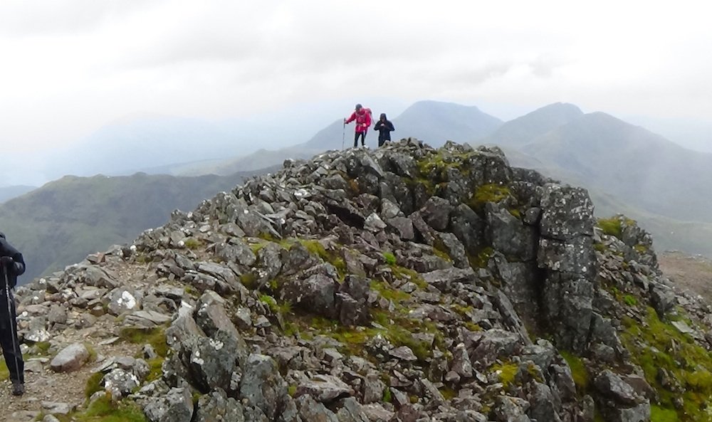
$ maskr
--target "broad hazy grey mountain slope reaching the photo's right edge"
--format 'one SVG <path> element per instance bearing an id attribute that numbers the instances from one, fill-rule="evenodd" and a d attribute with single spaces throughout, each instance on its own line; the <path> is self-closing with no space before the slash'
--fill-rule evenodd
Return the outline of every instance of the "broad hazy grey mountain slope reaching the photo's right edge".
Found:
<path id="1" fill-rule="evenodd" d="M 648 212 L 712 222 L 712 154 L 684 149 L 602 112 L 543 134 L 523 152 Z"/>

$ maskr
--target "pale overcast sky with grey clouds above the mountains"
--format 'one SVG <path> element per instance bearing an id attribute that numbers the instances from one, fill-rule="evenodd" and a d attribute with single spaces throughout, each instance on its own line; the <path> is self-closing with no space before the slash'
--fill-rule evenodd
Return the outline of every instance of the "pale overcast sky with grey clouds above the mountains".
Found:
<path id="1" fill-rule="evenodd" d="M 708 9 L 632 0 L 2 0 L 0 141 L 6 153 L 30 152 L 145 114 L 220 120 L 333 107 L 336 119 L 362 99 L 394 111 L 459 102 L 505 120 L 562 101 L 712 121 Z"/>

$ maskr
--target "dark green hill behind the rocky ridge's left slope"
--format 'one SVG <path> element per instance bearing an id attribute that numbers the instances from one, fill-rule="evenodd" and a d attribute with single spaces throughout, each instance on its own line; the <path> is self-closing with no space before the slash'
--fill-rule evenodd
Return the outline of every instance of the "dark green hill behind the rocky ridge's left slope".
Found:
<path id="1" fill-rule="evenodd" d="M 174 209 L 193 209 L 244 176 L 66 176 L 2 204 L 0 221 L 24 254 L 23 280 L 30 280 L 130 241 L 159 226 Z"/>

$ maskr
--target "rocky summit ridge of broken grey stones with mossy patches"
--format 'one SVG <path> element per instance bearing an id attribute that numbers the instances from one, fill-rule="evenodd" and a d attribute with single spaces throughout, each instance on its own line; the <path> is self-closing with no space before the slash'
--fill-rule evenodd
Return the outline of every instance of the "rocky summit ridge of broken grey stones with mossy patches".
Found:
<path id="1" fill-rule="evenodd" d="M 288 160 L 17 298 L 28 379 L 88 381 L 16 418 L 712 420 L 710 307 L 497 148 Z"/>

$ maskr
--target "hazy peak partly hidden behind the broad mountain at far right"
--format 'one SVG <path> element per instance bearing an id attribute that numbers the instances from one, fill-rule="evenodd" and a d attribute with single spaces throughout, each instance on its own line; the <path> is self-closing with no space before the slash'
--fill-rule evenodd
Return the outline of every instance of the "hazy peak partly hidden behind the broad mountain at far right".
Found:
<path id="1" fill-rule="evenodd" d="M 520 148 L 532 142 L 535 137 L 555 130 L 582 115 L 583 112 L 579 107 L 565 102 L 556 102 L 505 122 L 496 132 L 478 142 Z"/>

